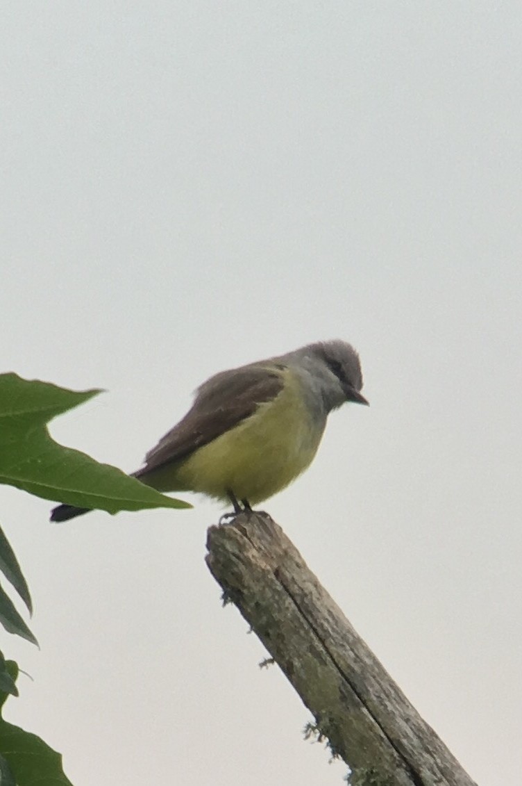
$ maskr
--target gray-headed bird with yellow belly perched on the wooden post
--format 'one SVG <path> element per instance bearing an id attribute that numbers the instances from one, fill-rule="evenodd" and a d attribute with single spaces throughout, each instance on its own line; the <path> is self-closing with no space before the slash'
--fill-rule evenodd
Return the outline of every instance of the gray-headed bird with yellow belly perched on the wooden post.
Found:
<path id="1" fill-rule="evenodd" d="M 368 403 L 361 387 L 359 355 L 345 341 L 222 371 L 197 389 L 192 409 L 133 476 L 158 491 L 201 492 L 250 510 L 305 471 L 331 410 Z M 51 520 L 85 512 L 58 505 Z"/>

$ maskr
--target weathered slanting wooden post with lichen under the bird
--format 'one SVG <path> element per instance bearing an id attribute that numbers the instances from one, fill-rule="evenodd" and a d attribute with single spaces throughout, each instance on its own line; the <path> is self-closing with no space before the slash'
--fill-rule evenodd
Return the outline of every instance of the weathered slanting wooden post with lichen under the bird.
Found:
<path id="1" fill-rule="evenodd" d="M 476 786 L 262 512 L 210 527 L 206 563 L 316 718 L 351 786 Z"/>

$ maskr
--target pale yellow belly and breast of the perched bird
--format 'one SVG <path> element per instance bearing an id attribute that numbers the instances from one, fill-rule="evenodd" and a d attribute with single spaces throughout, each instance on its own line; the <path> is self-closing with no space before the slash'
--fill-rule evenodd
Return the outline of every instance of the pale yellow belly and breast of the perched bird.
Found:
<path id="1" fill-rule="evenodd" d="M 166 467 L 160 490 L 197 491 L 222 500 L 228 500 L 232 490 L 236 498 L 257 505 L 300 475 L 316 455 L 326 417 L 312 417 L 300 381 L 286 369 L 283 374 L 285 385 L 276 399 L 260 404 L 254 415 L 184 461 Z"/>

